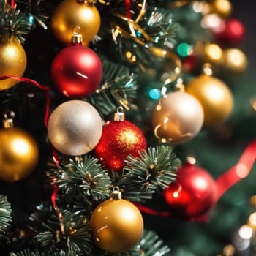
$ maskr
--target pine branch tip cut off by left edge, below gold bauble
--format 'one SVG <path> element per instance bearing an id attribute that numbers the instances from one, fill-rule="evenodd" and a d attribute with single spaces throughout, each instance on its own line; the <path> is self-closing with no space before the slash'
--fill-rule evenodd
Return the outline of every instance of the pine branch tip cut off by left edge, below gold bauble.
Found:
<path id="1" fill-rule="evenodd" d="M 11 206 L 7 201 L 7 197 L 0 196 L 0 238 L 4 238 L 4 233 L 8 227 L 10 227 L 11 217 Z"/>

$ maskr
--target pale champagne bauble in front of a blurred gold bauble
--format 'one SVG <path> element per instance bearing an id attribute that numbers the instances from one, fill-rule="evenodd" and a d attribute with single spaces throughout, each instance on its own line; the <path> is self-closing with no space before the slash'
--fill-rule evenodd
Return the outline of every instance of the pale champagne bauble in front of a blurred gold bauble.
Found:
<path id="1" fill-rule="evenodd" d="M 184 143 L 200 132 L 203 108 L 186 92 L 170 92 L 154 106 L 152 123 L 155 136 L 162 142 Z"/>

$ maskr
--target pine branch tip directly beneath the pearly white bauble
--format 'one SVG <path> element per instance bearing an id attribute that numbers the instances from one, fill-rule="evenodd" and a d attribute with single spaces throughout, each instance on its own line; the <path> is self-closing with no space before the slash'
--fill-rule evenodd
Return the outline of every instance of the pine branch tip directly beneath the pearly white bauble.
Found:
<path id="1" fill-rule="evenodd" d="M 49 173 L 53 184 L 58 184 L 69 197 L 91 205 L 92 201 L 104 200 L 109 196 L 111 185 L 108 170 L 103 170 L 98 159 L 84 155 L 62 162 L 59 169 Z"/>

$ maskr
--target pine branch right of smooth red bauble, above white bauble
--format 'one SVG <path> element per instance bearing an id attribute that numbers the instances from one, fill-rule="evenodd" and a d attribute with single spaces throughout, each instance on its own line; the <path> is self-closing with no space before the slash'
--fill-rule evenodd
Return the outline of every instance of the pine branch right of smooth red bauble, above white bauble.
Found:
<path id="1" fill-rule="evenodd" d="M 137 86 L 134 75 L 129 73 L 127 67 L 120 66 L 106 59 L 102 61 L 102 86 L 95 94 L 89 97 L 101 116 L 108 116 L 118 106 L 129 110 L 129 102 L 136 97 Z"/>

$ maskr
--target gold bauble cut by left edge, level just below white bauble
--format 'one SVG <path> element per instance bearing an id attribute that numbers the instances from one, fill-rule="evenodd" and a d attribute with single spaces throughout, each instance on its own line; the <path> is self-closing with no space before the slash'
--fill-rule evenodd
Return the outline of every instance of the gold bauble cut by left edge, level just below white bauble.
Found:
<path id="1" fill-rule="evenodd" d="M 0 129 L 0 180 L 20 181 L 37 165 L 39 149 L 34 138 L 18 127 Z"/>

